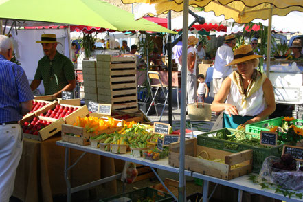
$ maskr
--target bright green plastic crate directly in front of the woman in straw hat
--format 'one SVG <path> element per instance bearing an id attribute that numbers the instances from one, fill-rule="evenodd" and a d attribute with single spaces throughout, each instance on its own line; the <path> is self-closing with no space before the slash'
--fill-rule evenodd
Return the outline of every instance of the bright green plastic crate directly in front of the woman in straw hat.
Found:
<path id="1" fill-rule="evenodd" d="M 257 122 L 253 124 L 247 124 L 245 126 L 245 132 L 246 133 L 255 133 L 260 135 L 261 131 L 269 131 L 267 126 L 282 126 L 282 119 L 284 117 L 276 117 L 274 119 L 265 120 L 262 122 Z M 295 126 L 301 127 L 303 124 L 303 120 L 293 120 L 292 121 Z M 279 135 L 282 135 L 282 133 L 279 133 Z"/>

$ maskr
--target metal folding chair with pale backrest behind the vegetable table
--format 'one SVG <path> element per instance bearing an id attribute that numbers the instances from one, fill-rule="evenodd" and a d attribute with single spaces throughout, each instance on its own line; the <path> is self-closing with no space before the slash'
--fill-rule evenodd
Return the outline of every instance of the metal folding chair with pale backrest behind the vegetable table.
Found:
<path id="1" fill-rule="evenodd" d="M 159 121 L 161 121 L 162 115 L 164 113 L 165 106 L 168 105 L 168 104 L 166 104 L 168 102 L 168 91 L 166 90 L 168 85 L 163 84 L 163 82 L 161 80 L 161 76 L 160 76 L 159 72 L 157 72 L 157 71 L 148 71 L 147 72 L 147 79 L 148 79 L 148 84 L 149 84 L 149 87 L 150 87 L 150 94 L 151 94 L 153 100 L 150 103 L 150 106 L 148 107 L 148 110 L 147 110 L 146 114 L 148 114 L 148 112 L 150 111 L 151 106 L 154 105 L 155 110 L 156 110 L 156 114 L 157 114 L 157 116 L 159 116 L 158 112 L 157 112 L 157 105 L 160 105 L 160 104 L 162 105 L 163 103 L 156 103 L 155 98 L 157 96 L 157 93 L 158 93 L 159 89 L 161 88 L 160 93 L 162 92 L 163 95 L 164 95 L 164 98 L 165 98 L 165 101 L 164 101 L 164 104 L 163 104 L 164 106 L 163 106 L 163 109 L 161 111 L 161 116 L 160 116 L 160 120 L 159 120 Z M 153 84 L 152 84 L 152 82 L 153 82 Z M 156 88 L 155 94 L 153 94 L 152 87 Z"/>

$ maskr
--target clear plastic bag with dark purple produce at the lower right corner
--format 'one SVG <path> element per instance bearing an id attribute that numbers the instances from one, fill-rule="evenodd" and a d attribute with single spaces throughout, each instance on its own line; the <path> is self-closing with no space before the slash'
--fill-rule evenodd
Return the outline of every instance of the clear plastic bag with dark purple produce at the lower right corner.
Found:
<path id="1" fill-rule="evenodd" d="M 273 168 L 272 164 L 279 162 L 280 157 L 267 157 L 262 165 L 262 169 L 258 175 L 258 181 L 267 180 L 282 186 L 284 189 L 302 190 L 303 189 L 303 172 L 287 171 Z"/>

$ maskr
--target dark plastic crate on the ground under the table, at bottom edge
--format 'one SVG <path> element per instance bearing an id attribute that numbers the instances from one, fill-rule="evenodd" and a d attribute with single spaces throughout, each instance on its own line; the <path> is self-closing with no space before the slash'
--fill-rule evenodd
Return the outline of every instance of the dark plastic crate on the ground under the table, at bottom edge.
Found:
<path id="1" fill-rule="evenodd" d="M 146 187 L 124 194 L 118 194 L 114 197 L 100 199 L 99 202 L 114 201 L 115 199 L 120 199 L 122 197 L 130 198 L 132 199 L 132 202 L 144 201 L 144 199 L 150 199 L 151 201 L 170 201 L 171 199 L 171 201 L 173 201 L 173 198 L 170 196 L 170 194 L 166 194 L 165 192 Z"/>

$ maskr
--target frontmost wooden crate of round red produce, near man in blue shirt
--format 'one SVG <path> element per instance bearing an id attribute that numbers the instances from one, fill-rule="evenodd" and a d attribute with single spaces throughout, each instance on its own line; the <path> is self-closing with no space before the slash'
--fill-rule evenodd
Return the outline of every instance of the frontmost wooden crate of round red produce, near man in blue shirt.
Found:
<path id="1" fill-rule="evenodd" d="M 38 117 L 37 115 L 30 115 L 29 117 L 23 118 L 20 121 L 21 126 L 24 124 L 24 122 L 32 122 L 34 117 Z M 62 118 L 58 120 L 54 120 L 52 118 L 48 117 L 38 117 L 41 120 L 45 120 L 47 122 L 52 122 L 52 124 L 46 126 L 45 128 L 42 128 L 40 131 L 38 131 L 38 135 L 33 135 L 29 133 L 23 133 L 24 137 L 29 139 L 36 139 L 38 141 L 44 141 L 45 139 L 52 137 L 56 133 L 61 131 L 62 124 L 64 124 L 64 120 Z"/>

